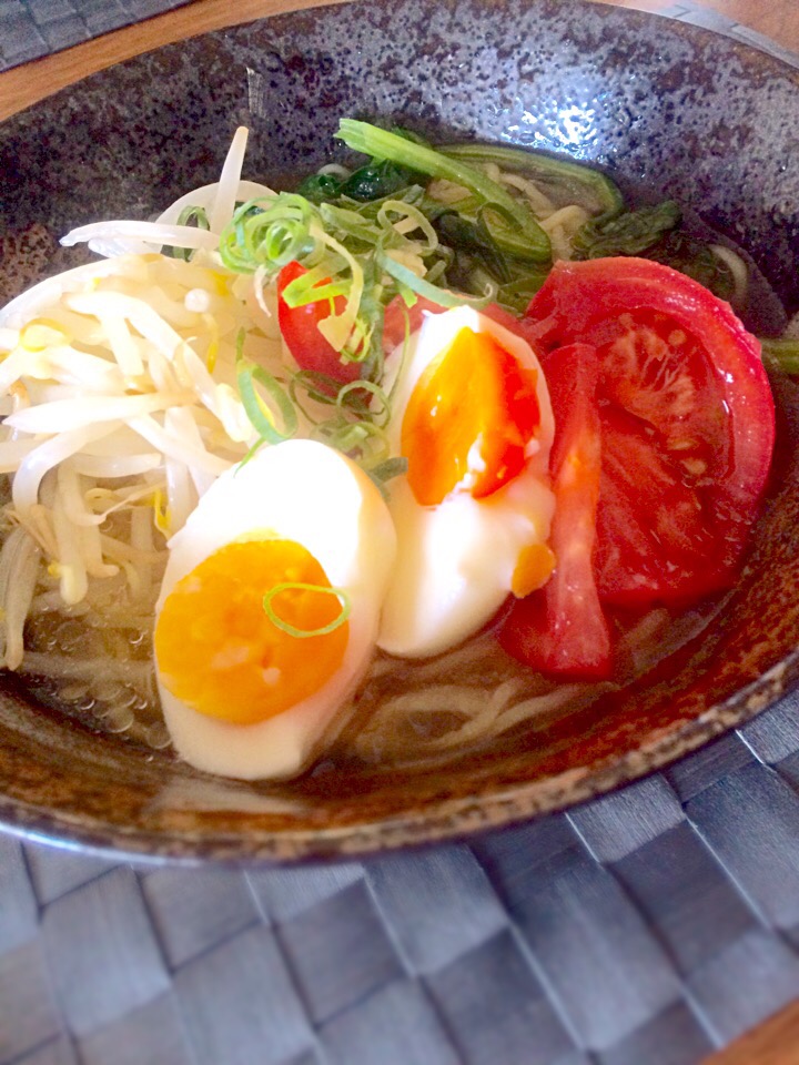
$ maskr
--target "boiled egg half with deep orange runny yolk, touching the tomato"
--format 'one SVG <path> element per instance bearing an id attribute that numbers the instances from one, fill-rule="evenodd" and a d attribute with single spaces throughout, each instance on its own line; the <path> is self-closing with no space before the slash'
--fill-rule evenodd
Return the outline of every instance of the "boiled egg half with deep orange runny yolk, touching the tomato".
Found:
<path id="1" fill-rule="evenodd" d="M 392 403 L 390 444 L 407 475 L 392 481 L 398 548 L 381 648 L 437 655 L 482 628 L 509 594 L 546 582 L 553 432 L 526 341 L 467 307 L 426 316 Z"/>

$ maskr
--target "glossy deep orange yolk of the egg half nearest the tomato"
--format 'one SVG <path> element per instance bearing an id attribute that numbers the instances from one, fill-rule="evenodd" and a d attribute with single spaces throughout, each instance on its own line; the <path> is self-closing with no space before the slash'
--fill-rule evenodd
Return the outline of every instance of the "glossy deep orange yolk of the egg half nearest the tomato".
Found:
<path id="1" fill-rule="evenodd" d="M 492 495 L 525 465 L 540 424 L 537 374 L 488 333 L 462 328 L 426 367 L 402 424 L 408 484 L 421 506 L 436 506 L 463 483 Z"/>

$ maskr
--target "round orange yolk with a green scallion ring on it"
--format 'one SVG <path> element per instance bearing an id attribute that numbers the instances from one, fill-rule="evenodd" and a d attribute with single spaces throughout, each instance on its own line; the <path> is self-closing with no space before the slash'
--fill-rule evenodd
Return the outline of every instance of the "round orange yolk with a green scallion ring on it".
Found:
<path id="1" fill-rule="evenodd" d="M 324 636 L 292 636 L 264 609 L 311 632 L 333 623 L 342 606 L 322 566 L 291 540 L 229 544 L 178 581 L 155 628 L 155 655 L 166 689 L 186 706 L 234 724 L 283 713 L 318 691 L 340 669 L 350 625 Z"/>

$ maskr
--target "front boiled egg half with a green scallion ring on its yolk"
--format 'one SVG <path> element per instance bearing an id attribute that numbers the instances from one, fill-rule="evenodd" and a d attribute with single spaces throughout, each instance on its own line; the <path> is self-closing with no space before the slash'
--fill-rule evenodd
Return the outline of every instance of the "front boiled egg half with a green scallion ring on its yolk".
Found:
<path id="1" fill-rule="evenodd" d="M 225 777 L 296 775 L 374 652 L 395 555 L 380 491 L 289 440 L 223 474 L 169 546 L 154 648 L 175 750 Z"/>

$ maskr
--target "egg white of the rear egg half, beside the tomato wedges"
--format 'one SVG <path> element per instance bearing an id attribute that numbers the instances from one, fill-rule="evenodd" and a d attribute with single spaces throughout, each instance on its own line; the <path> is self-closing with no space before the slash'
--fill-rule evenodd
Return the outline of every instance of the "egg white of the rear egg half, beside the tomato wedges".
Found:
<path id="1" fill-rule="evenodd" d="M 459 486 L 438 506 L 424 507 L 404 477 L 392 481 L 397 558 L 377 643 L 403 658 L 438 655 L 489 621 L 510 591 L 519 552 L 547 541 L 555 510 L 548 478 L 554 420 L 538 359 L 524 339 L 471 308 L 428 315 L 411 338 L 392 400 L 392 453 L 401 454 L 403 416 L 419 377 L 464 327 L 489 334 L 537 371 L 540 430 L 523 471 L 486 498 Z"/>

